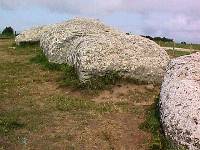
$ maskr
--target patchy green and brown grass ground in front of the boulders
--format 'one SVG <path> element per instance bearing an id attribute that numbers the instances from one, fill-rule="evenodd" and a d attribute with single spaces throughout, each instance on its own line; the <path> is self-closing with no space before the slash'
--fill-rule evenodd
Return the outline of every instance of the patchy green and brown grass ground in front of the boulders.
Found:
<path id="1" fill-rule="evenodd" d="M 48 63 L 37 45 L 0 40 L 0 149 L 167 149 L 158 86 L 69 80 L 73 69 Z"/>

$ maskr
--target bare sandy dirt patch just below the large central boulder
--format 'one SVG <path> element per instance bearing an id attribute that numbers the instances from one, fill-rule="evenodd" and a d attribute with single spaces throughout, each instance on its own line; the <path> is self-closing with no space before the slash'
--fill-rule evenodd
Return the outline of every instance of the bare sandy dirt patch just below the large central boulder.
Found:
<path id="1" fill-rule="evenodd" d="M 135 105 L 143 105 L 144 103 L 151 105 L 158 93 L 158 86 L 152 85 L 152 89 L 149 89 L 148 85 L 121 83 L 113 86 L 110 90 L 100 92 L 93 100 L 96 102 L 132 102 Z"/>

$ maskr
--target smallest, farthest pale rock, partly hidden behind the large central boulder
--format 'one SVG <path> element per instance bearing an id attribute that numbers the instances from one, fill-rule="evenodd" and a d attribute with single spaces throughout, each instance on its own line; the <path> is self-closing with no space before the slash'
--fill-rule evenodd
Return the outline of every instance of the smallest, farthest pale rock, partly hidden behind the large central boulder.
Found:
<path id="1" fill-rule="evenodd" d="M 15 38 L 15 42 L 17 45 L 19 45 L 22 42 L 40 42 L 41 36 L 47 30 L 53 27 L 54 25 L 49 25 L 49 26 L 34 27 L 29 30 L 25 30 Z"/>

